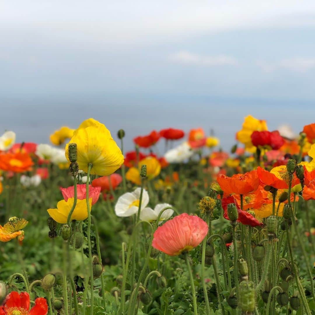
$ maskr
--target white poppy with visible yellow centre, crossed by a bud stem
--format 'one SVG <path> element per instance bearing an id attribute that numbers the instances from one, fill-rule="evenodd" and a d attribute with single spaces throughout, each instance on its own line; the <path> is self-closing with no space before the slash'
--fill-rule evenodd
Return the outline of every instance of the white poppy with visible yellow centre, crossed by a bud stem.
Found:
<path id="1" fill-rule="evenodd" d="M 140 203 L 141 188 L 136 188 L 133 192 L 126 192 L 120 196 L 115 205 L 115 213 L 120 217 L 127 217 L 138 212 Z M 149 194 L 143 189 L 141 208 L 144 209 L 149 203 Z"/>

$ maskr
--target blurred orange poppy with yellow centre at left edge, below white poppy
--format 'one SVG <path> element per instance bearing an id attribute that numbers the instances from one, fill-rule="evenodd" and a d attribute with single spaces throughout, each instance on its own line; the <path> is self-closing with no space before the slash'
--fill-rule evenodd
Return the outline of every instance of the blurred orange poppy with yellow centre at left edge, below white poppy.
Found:
<path id="1" fill-rule="evenodd" d="M 28 171 L 33 165 L 33 161 L 27 153 L 2 153 L 0 154 L 0 169 L 22 173 Z"/>

